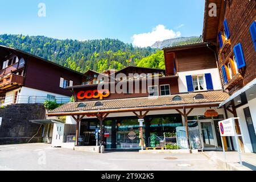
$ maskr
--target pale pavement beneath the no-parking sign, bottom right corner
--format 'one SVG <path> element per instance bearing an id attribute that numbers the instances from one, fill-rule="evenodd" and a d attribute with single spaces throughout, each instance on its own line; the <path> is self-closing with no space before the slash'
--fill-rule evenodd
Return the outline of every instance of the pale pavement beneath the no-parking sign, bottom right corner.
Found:
<path id="1" fill-rule="evenodd" d="M 223 151 L 204 151 L 209 159 L 218 163 L 218 165 L 226 167 L 229 170 L 239 170 L 239 171 L 256 171 L 256 154 L 241 152 L 242 166 L 240 165 L 239 154 L 237 151 L 227 151 L 226 161 Z"/>

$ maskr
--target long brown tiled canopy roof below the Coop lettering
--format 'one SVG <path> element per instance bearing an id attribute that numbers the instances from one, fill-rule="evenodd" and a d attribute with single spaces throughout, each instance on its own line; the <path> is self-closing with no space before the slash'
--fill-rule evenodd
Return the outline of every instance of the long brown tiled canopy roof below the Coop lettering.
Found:
<path id="1" fill-rule="evenodd" d="M 195 100 L 197 94 L 203 94 L 204 99 Z M 172 101 L 175 96 L 180 96 L 181 101 Z M 209 92 L 196 92 L 196 93 L 183 93 L 174 94 L 169 96 L 152 97 L 135 97 L 135 98 L 121 98 L 115 100 L 101 100 L 102 106 L 94 106 L 98 101 L 85 101 L 85 102 L 69 102 L 55 110 L 49 111 L 53 113 L 72 113 L 77 111 L 109 111 L 113 109 L 132 109 L 140 107 L 154 107 L 154 106 L 175 106 L 175 105 L 190 105 L 190 104 L 220 104 L 229 97 L 228 94 L 222 91 L 209 91 Z M 77 107 L 80 103 L 85 104 L 85 107 Z"/>

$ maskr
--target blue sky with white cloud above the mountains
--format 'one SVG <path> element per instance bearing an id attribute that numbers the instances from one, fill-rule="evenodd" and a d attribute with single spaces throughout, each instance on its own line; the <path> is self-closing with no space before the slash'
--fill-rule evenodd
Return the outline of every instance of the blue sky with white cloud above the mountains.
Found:
<path id="1" fill-rule="evenodd" d="M 119 39 L 134 46 L 200 36 L 205 0 L 0 0 L 0 34 Z"/>

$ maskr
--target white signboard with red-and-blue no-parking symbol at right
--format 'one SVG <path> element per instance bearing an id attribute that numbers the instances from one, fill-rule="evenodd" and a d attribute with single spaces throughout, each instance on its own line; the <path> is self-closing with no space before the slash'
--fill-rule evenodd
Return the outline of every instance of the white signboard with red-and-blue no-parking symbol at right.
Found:
<path id="1" fill-rule="evenodd" d="M 235 136 L 234 118 L 225 119 L 218 122 L 221 137 Z"/>

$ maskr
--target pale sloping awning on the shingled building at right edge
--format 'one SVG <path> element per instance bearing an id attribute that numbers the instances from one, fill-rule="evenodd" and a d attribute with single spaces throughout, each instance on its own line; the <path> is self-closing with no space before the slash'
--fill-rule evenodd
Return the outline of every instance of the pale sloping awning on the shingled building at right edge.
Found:
<path id="1" fill-rule="evenodd" d="M 221 104 L 218 106 L 219 108 L 224 106 L 225 104 L 228 104 L 230 101 L 234 100 L 234 98 L 240 96 L 242 93 L 246 93 L 247 100 L 251 100 L 255 98 L 256 95 L 256 78 L 249 82 L 249 84 L 243 86 L 242 89 L 238 90 L 236 93 L 234 93 L 232 96 L 230 96 L 227 100 L 221 102 Z"/>

